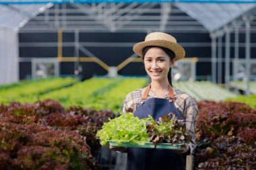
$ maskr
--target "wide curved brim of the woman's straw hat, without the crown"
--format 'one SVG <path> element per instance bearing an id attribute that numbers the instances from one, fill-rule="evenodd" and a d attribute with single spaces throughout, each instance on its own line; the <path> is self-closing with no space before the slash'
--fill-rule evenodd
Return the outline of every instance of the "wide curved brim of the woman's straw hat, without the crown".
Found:
<path id="1" fill-rule="evenodd" d="M 146 46 L 161 46 L 168 48 L 174 52 L 175 60 L 180 60 L 181 58 L 185 57 L 185 50 L 181 45 L 166 40 L 150 40 L 146 42 L 139 42 L 133 46 L 133 51 L 135 54 L 142 57 L 142 50 Z"/>

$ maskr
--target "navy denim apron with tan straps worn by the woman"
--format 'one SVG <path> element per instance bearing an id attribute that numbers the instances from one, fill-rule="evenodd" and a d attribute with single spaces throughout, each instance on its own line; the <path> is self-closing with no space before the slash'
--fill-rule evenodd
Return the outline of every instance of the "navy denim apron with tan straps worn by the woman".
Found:
<path id="1" fill-rule="evenodd" d="M 158 118 L 172 112 L 181 119 L 181 114 L 174 106 L 174 95 L 169 85 L 169 99 L 151 98 L 147 99 L 150 85 L 141 97 L 141 105 L 133 113 L 138 118 L 148 118 L 148 114 Z M 147 100 L 146 100 L 147 99 Z M 185 169 L 183 157 L 170 149 L 159 148 L 127 148 L 127 170 L 148 170 L 148 169 Z"/>

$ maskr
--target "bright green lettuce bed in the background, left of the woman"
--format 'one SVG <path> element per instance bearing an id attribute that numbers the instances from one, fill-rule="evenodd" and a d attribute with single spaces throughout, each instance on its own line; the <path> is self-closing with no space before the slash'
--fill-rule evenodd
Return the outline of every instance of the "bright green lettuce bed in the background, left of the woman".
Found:
<path id="1" fill-rule="evenodd" d="M 41 87 L 46 89 L 48 82 L 41 83 Z M 55 85 L 59 85 L 55 83 Z M 84 108 L 96 110 L 110 109 L 120 111 L 127 93 L 145 87 L 146 79 L 143 78 L 92 78 L 81 83 L 57 90 L 48 89 L 48 93 L 42 93 L 37 83 L 28 84 L 28 87 L 9 88 L 0 94 L 0 103 L 19 101 L 22 103 L 33 103 L 43 99 L 55 99 L 65 108 L 71 105 L 80 105 Z M 1 88 L 1 87 L 0 87 Z M 18 90 L 20 89 L 20 91 Z M 25 94 L 25 92 L 28 92 Z M 9 97 L 8 97 L 9 96 Z"/>

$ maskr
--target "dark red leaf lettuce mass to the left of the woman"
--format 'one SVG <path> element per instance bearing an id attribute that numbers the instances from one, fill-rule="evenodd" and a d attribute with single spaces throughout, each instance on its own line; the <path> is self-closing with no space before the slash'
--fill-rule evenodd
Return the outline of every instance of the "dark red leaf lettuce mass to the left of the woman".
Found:
<path id="1" fill-rule="evenodd" d="M 96 132 L 108 118 L 51 99 L 0 105 L 0 169 L 100 169 Z"/>

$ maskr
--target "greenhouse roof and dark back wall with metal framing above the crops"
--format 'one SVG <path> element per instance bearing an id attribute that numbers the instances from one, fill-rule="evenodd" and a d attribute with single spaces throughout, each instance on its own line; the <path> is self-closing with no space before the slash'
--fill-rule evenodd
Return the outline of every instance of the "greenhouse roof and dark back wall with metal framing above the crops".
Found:
<path id="1" fill-rule="evenodd" d="M 94 72 L 106 75 L 113 67 L 120 75 L 135 75 L 129 70 L 137 65 L 128 64 L 141 61 L 131 47 L 145 34 L 158 31 L 174 34 L 187 48 L 187 58 L 199 59 L 199 80 L 204 75 L 202 79 L 229 85 L 230 79 L 241 79 L 237 76 L 241 70 L 233 65 L 244 65 L 247 77 L 255 75 L 253 2 L 85 2 L 0 1 L 0 83 L 34 75 L 32 63 L 40 62 L 36 58 L 49 58 L 49 62 L 57 58 L 60 69 L 55 75 L 73 74 L 79 63 L 70 66 L 68 62 L 81 62 L 88 68 L 82 73 L 84 79 Z M 101 52 L 96 47 L 101 47 Z M 63 71 L 66 66 L 74 68 Z"/>

